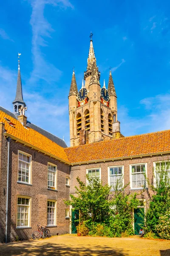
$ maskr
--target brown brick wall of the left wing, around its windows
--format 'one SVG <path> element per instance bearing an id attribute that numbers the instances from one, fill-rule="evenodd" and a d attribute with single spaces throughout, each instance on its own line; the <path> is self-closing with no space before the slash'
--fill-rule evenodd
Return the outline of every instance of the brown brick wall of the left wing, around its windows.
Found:
<path id="1" fill-rule="evenodd" d="M 6 172 L 7 172 L 7 156 L 6 156 L 6 139 L 3 138 L 3 151 L 1 147 L 1 186 L 0 197 L 3 198 L 0 202 L 1 211 L 5 211 L 6 195 L 3 195 L 3 190 L 6 189 Z M 23 151 L 32 156 L 32 182 L 31 186 L 27 184 L 17 183 L 18 170 L 18 150 Z M 4 157 L 5 156 L 5 157 Z M 3 160 L 2 160 L 3 159 Z M 47 189 L 48 178 L 48 162 L 57 165 L 57 191 Z M 69 177 L 69 166 L 54 160 L 38 151 L 35 151 L 20 143 L 10 142 L 10 167 L 9 167 L 9 204 L 8 204 L 8 241 L 14 241 L 16 236 L 19 239 L 30 239 L 31 233 L 37 230 L 37 223 L 43 226 L 47 225 L 47 200 L 57 201 L 57 227 L 50 227 L 52 235 L 69 233 L 69 220 L 65 219 L 65 209 L 68 208 L 64 204 L 64 199 L 69 199 L 69 187 L 65 186 L 65 177 Z M 28 196 L 31 198 L 31 228 L 17 229 L 17 195 Z M 4 233 L 5 218 L 3 218 L 1 229 Z M 4 242 L 5 236 L 1 235 L 1 242 Z"/>

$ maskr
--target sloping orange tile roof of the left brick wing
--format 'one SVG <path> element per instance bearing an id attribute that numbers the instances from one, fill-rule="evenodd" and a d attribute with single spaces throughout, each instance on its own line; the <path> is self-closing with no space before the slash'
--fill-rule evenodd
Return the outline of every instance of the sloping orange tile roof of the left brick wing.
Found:
<path id="1" fill-rule="evenodd" d="M 9 125 L 4 117 L 9 119 L 14 124 L 14 127 Z M 0 111 L 0 122 L 5 123 L 6 133 L 16 137 L 19 140 L 22 140 L 23 142 L 29 143 L 42 151 L 48 152 L 49 154 L 52 154 L 63 161 L 68 162 L 68 157 L 64 151 L 64 148 L 49 140 L 47 137 L 43 136 L 34 129 L 25 128 L 18 120 L 14 119 L 3 111 Z"/>

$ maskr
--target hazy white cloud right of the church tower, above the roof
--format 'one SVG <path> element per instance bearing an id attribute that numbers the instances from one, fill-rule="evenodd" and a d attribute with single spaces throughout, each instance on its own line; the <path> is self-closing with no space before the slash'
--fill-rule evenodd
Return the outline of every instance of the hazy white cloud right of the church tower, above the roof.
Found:
<path id="1" fill-rule="evenodd" d="M 130 116 L 125 106 L 118 109 L 121 132 L 125 136 L 170 129 L 170 94 L 148 97 L 139 102 L 143 116 Z"/>

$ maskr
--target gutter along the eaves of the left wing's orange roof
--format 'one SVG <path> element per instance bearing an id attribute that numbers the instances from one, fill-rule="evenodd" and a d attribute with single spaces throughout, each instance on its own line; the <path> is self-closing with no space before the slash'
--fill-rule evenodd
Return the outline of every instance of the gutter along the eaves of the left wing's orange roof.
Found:
<path id="1" fill-rule="evenodd" d="M 31 148 L 31 149 L 33 148 L 33 149 L 37 150 L 38 152 L 41 152 L 41 153 L 44 154 L 44 155 L 48 155 L 49 157 L 53 157 L 55 160 L 59 160 L 59 161 L 62 162 L 62 163 L 71 165 L 70 162 L 63 160 L 62 158 L 57 157 L 57 156 L 55 156 L 54 154 L 50 154 L 49 152 L 47 152 L 47 151 L 45 151 L 45 150 L 43 150 L 43 149 L 37 148 L 36 146 L 31 145 L 30 143 L 27 143 L 27 142 L 25 142 L 24 140 L 20 140 L 20 139 L 18 139 L 17 137 L 15 137 L 15 136 L 13 136 L 13 135 L 11 135 L 11 134 L 8 134 L 7 132 L 4 133 L 4 136 L 5 136 L 6 138 L 10 137 L 12 140 L 15 140 L 15 142 L 19 142 L 19 143 L 23 144 L 24 146 L 28 146 L 28 147 Z M 64 151 L 64 152 L 65 152 L 65 151 Z M 65 153 L 65 154 L 66 154 L 66 153 Z"/>

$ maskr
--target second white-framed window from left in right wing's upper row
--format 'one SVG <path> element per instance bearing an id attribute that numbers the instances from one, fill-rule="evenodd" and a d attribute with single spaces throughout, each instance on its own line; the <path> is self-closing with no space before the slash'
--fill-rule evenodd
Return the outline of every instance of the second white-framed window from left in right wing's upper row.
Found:
<path id="1" fill-rule="evenodd" d="M 118 182 L 118 189 L 122 189 L 124 185 L 123 180 L 124 166 L 109 166 L 108 167 L 108 184 L 114 190 Z"/>

